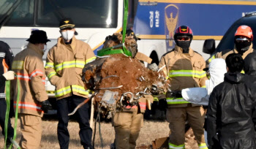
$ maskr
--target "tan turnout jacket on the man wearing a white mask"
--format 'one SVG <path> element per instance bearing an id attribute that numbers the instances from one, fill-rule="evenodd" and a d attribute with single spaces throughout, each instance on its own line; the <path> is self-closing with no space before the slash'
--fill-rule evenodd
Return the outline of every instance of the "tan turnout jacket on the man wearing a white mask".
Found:
<path id="1" fill-rule="evenodd" d="M 50 83 L 55 85 L 56 99 L 78 95 L 88 97 L 89 91 L 84 88 L 82 81 L 83 66 L 96 57 L 91 47 L 75 37 L 66 45 L 64 39 L 59 37 L 58 42 L 48 52 L 45 73 Z"/>

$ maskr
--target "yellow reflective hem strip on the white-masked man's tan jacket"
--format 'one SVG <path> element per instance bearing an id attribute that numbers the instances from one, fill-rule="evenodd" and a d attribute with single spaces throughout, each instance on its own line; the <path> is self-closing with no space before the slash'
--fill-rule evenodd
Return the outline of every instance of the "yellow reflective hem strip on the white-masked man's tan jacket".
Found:
<path id="1" fill-rule="evenodd" d="M 61 88 L 55 92 L 56 97 L 67 95 L 67 93 L 71 93 L 72 91 L 75 91 L 77 93 L 83 94 L 83 95 L 89 95 L 89 90 L 86 91 L 85 88 L 83 88 L 80 85 L 71 85 L 67 86 L 65 88 Z"/>

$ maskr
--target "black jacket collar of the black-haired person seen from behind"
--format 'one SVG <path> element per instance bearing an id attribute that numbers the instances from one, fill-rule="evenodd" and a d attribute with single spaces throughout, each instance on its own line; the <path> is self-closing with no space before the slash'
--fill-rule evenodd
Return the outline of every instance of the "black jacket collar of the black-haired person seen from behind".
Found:
<path id="1" fill-rule="evenodd" d="M 238 84 L 244 82 L 244 74 L 240 72 L 227 72 L 225 73 L 224 80 L 231 84 Z"/>

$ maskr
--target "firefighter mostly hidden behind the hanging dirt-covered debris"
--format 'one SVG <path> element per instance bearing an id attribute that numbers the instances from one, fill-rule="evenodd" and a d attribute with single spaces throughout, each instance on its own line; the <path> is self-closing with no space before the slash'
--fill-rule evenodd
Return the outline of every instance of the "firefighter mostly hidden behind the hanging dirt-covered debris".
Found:
<path id="1" fill-rule="evenodd" d="M 143 64 L 147 62 L 151 63 L 151 58 L 139 53 L 137 50 L 137 40 L 134 32 L 131 29 L 127 30 L 126 40 L 129 43 L 135 44 L 130 47 L 135 47 L 133 50 L 128 45 L 128 50 L 132 52 L 132 57 L 140 60 Z M 117 109 L 115 115 L 113 115 L 113 127 L 115 129 L 115 148 L 116 149 L 129 149 L 136 147 L 136 140 L 139 137 L 140 129 L 143 126 L 143 113 L 146 111 L 146 99 L 153 97 L 145 95 L 136 102 L 130 110 Z M 112 147 L 113 148 L 113 147 Z"/>

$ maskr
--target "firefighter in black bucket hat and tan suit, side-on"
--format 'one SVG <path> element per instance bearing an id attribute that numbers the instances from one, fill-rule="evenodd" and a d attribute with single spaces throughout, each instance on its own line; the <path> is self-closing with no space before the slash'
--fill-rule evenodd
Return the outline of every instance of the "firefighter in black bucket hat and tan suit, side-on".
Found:
<path id="1" fill-rule="evenodd" d="M 42 115 L 51 107 L 45 91 L 45 69 L 42 56 L 46 50 L 48 39 L 45 31 L 31 31 L 26 49 L 18 53 L 12 62 L 12 70 L 20 80 L 12 80 L 11 98 L 16 107 L 17 96 L 18 117 L 20 119 L 20 148 L 39 148 L 42 135 Z"/>

